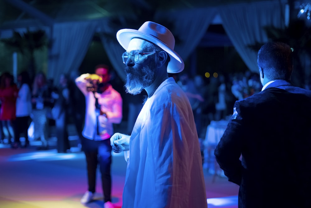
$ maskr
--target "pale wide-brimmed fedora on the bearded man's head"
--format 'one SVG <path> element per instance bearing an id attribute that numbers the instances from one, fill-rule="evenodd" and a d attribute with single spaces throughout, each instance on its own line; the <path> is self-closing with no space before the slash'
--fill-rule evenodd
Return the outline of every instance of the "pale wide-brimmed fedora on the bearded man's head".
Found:
<path id="1" fill-rule="evenodd" d="M 145 39 L 166 51 L 170 56 L 167 66 L 168 73 L 178 73 L 183 70 L 183 60 L 174 51 L 175 38 L 166 27 L 155 22 L 145 22 L 138 30 L 122 29 L 117 32 L 117 40 L 126 51 L 128 50 L 128 44 L 133 38 Z"/>

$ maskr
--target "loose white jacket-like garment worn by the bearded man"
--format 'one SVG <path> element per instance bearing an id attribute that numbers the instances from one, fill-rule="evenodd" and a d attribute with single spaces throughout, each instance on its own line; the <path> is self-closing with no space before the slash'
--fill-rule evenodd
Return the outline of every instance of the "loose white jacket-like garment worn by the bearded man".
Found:
<path id="1" fill-rule="evenodd" d="M 207 207 L 192 109 L 173 78 L 144 104 L 129 153 L 123 208 Z"/>

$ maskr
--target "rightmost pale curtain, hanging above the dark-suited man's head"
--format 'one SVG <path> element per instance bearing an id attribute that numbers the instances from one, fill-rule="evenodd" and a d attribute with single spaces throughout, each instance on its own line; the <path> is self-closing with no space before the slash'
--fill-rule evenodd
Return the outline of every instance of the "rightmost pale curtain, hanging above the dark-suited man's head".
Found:
<path id="1" fill-rule="evenodd" d="M 268 42 L 264 26 L 284 28 L 284 3 L 252 2 L 219 7 L 223 27 L 248 69 L 258 72 L 257 51 L 248 45 Z"/>

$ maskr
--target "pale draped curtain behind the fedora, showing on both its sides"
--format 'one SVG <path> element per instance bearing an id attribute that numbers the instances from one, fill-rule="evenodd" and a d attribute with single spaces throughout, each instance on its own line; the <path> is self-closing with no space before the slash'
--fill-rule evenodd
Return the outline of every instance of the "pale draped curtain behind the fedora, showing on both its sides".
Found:
<path id="1" fill-rule="evenodd" d="M 172 27 L 165 26 L 168 27 L 176 39 L 174 50 L 183 60 L 186 60 L 201 41 L 216 12 L 216 8 L 158 11 L 154 19 L 150 21 L 160 24 L 162 22 L 171 23 Z M 117 31 L 111 31 L 112 29 L 108 27 L 107 22 L 101 21 L 100 24 L 103 32 L 109 34 L 117 33 Z M 124 49 L 120 46 L 116 38 L 105 38 L 102 36 L 101 41 L 114 69 L 121 79 L 125 80 L 125 65 L 121 58 Z"/>

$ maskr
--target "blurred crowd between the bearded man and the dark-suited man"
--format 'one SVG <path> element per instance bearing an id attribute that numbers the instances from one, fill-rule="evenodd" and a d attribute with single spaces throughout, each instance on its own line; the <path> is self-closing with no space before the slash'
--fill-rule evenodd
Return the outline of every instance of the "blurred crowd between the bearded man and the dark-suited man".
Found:
<path id="1" fill-rule="evenodd" d="M 205 138 L 206 127 L 212 120 L 230 118 L 236 100 L 262 89 L 259 74 L 249 71 L 209 78 L 183 73 L 174 75 L 174 79 L 188 95 L 199 138 Z"/>

